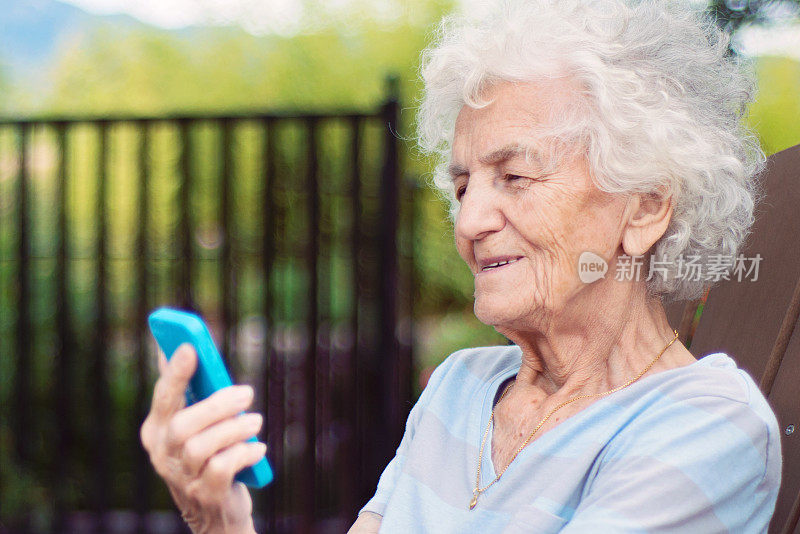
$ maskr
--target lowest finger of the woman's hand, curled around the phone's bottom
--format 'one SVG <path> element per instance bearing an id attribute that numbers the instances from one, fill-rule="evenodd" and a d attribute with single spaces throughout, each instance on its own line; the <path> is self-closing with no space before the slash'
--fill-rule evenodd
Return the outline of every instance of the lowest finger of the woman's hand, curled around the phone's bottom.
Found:
<path id="1" fill-rule="evenodd" d="M 200 502 L 221 498 L 233 484 L 233 477 L 251 466 L 266 454 L 267 446 L 256 442 L 239 442 L 212 456 L 200 473 L 187 487 Z"/>

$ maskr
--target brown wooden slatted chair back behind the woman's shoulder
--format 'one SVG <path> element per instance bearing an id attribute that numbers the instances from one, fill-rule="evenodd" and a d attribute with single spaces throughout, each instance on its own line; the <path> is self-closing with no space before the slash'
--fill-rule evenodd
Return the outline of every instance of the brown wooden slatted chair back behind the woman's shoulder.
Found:
<path id="1" fill-rule="evenodd" d="M 781 430 L 783 473 L 770 534 L 800 534 L 800 145 L 770 157 L 765 198 L 742 251 L 763 258 L 756 281 L 732 278 L 700 304 L 679 302 L 667 315 L 696 358 L 725 352 L 759 383 Z"/>

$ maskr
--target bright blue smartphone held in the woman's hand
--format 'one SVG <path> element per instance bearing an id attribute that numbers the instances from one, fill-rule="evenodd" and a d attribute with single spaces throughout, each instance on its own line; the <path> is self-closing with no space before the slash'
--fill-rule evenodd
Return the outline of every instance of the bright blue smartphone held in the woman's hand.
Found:
<path id="1" fill-rule="evenodd" d="M 150 331 L 169 360 L 183 343 L 197 352 L 197 370 L 186 388 L 186 405 L 201 401 L 233 382 L 203 320 L 197 315 L 171 308 L 159 308 L 148 318 Z M 247 441 L 258 441 L 255 436 Z M 251 488 L 263 488 L 272 481 L 272 468 L 264 457 L 239 471 L 235 480 Z"/>

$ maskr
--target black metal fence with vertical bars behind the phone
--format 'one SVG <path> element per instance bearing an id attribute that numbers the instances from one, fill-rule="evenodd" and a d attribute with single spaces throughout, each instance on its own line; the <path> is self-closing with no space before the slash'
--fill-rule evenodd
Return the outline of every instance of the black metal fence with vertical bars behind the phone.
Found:
<path id="1" fill-rule="evenodd" d="M 181 532 L 139 445 L 153 308 L 256 387 L 259 532 L 342 532 L 411 406 L 411 190 L 374 112 L 0 122 L 0 531 Z"/>

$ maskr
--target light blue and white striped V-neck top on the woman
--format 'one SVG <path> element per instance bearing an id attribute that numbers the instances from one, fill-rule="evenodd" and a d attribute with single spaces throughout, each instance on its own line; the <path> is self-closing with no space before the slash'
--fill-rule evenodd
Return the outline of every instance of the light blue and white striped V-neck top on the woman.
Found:
<path id="1" fill-rule="evenodd" d="M 481 438 L 516 346 L 456 352 L 411 410 L 361 511 L 381 533 L 766 532 L 781 478 L 778 422 L 723 353 L 600 397 L 531 442 L 469 510 Z M 491 433 L 481 487 L 496 476 Z"/>

